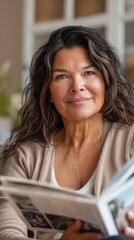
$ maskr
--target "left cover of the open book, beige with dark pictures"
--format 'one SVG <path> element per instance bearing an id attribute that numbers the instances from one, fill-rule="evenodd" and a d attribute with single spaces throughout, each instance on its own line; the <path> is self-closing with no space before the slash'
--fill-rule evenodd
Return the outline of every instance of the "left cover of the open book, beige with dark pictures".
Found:
<path id="1" fill-rule="evenodd" d="M 102 213 L 101 208 L 98 208 L 99 199 L 93 196 L 33 180 L 6 176 L 0 177 L 0 190 L 28 229 L 60 232 L 76 219 L 80 219 L 83 222 L 82 232 L 118 233 L 111 215 L 107 215 L 106 210 L 105 214 Z"/>

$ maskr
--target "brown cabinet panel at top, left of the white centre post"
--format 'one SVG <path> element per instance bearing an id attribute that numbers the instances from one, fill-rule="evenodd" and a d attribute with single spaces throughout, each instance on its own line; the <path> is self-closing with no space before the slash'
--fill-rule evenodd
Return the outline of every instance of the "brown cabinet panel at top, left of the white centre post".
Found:
<path id="1" fill-rule="evenodd" d="M 36 22 L 63 18 L 63 0 L 36 0 Z"/>

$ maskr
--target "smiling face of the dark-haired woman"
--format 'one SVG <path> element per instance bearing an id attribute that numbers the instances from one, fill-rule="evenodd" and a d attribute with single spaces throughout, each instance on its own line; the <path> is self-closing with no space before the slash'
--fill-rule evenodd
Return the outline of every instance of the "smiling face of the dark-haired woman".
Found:
<path id="1" fill-rule="evenodd" d="M 63 119 L 82 121 L 100 112 L 105 83 L 84 48 L 64 48 L 55 55 L 50 93 Z"/>

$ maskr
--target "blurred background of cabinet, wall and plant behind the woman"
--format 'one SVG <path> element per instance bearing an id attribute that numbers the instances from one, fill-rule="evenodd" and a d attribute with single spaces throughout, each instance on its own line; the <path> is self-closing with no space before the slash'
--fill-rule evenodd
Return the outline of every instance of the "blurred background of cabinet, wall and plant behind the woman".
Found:
<path id="1" fill-rule="evenodd" d="M 0 144 L 16 124 L 33 53 L 64 25 L 98 29 L 134 84 L 134 0 L 0 0 Z"/>

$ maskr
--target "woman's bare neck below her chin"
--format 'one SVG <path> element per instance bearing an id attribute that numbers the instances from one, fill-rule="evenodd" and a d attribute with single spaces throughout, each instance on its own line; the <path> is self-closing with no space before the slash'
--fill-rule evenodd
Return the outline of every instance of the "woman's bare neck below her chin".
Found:
<path id="1" fill-rule="evenodd" d="M 103 120 L 101 114 L 79 123 L 64 121 L 64 125 L 63 142 L 75 150 L 82 148 L 86 143 L 91 145 L 97 142 L 102 136 Z"/>

